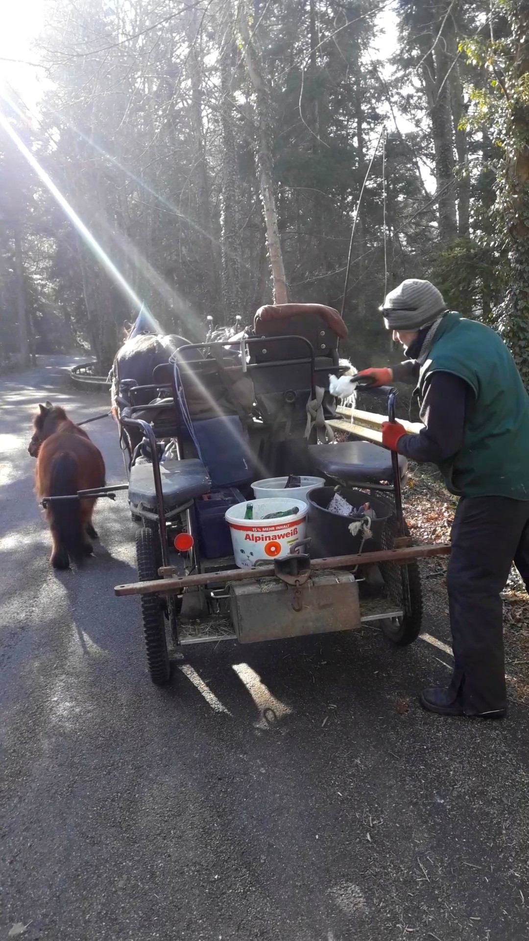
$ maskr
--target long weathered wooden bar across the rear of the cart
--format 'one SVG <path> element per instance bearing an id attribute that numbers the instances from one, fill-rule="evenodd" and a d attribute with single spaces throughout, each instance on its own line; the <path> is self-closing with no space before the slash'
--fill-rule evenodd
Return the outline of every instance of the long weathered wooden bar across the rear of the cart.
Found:
<path id="1" fill-rule="evenodd" d="M 450 546 L 443 543 L 430 546 L 411 546 L 408 549 L 380 550 L 355 555 L 336 555 L 330 559 L 313 559 L 311 568 L 314 571 L 322 571 L 326 568 L 353 568 L 354 566 L 375 565 L 379 562 L 393 562 L 396 565 L 403 565 L 432 555 L 448 555 L 449 553 Z M 132 582 L 131 584 L 116 585 L 114 593 L 120 598 L 125 595 L 169 595 L 172 592 L 181 592 L 183 588 L 192 588 L 198 585 L 226 584 L 227 582 L 244 582 L 246 580 L 258 581 L 272 578 L 274 575 L 274 566 L 232 568 L 226 572 L 205 572 L 200 573 L 200 575 L 187 575 L 182 579 L 166 578 L 156 579 L 154 582 Z"/>

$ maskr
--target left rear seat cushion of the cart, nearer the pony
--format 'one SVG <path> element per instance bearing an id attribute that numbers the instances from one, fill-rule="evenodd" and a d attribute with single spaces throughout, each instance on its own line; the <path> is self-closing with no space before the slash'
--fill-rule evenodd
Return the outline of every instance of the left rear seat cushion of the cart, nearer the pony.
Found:
<path id="1" fill-rule="evenodd" d="M 168 460 L 160 464 L 160 476 L 164 492 L 166 512 L 177 506 L 209 493 L 211 480 L 204 465 L 197 458 L 188 460 Z M 129 500 L 146 508 L 156 509 L 156 492 L 151 463 L 139 463 L 131 468 L 129 480 Z"/>

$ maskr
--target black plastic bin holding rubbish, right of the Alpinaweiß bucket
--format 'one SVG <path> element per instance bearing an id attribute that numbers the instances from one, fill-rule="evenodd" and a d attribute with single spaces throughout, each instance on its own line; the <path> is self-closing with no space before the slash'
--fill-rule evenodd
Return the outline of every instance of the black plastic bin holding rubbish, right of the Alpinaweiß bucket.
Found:
<path id="1" fill-rule="evenodd" d="M 371 521 L 373 535 L 364 542 L 362 551 L 373 552 L 381 549 L 382 534 L 389 519 L 393 516 L 391 504 L 378 497 L 372 497 L 369 493 L 363 493 L 361 490 L 340 487 L 339 492 L 340 496 L 344 497 L 351 506 L 356 508 L 369 503 L 375 510 L 377 518 Z M 311 537 L 310 552 L 313 559 L 349 555 L 361 549 L 361 533 L 351 535 L 348 529 L 354 518 L 341 517 L 327 509 L 334 493 L 333 486 L 318 486 L 307 494 L 306 499 L 309 504 L 307 534 Z"/>

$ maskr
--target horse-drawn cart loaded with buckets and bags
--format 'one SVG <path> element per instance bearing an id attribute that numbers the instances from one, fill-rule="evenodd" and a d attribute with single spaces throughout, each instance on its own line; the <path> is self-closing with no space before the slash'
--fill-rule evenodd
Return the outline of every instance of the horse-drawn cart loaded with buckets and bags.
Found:
<path id="1" fill-rule="evenodd" d="M 154 683 L 168 681 L 171 657 L 187 644 L 358 630 L 368 622 L 397 645 L 417 638 L 418 562 L 448 547 L 411 545 L 402 457 L 359 438 L 329 440 L 329 375 L 340 372 L 345 333 L 329 308 L 264 308 L 252 333 L 179 346 L 147 384 L 120 375 L 118 362 L 114 402 L 138 524 L 138 580 L 115 591 L 140 597 Z M 377 394 L 394 420 L 396 392 Z M 271 519 L 255 535 L 248 517 L 258 506 L 257 478 L 311 474 L 319 486 L 304 501 L 290 500 L 296 510 L 306 502 L 302 537 L 292 516 Z M 283 492 L 288 503 L 289 489 Z M 236 558 L 224 521 L 233 505 L 247 517 L 239 512 L 233 524 Z"/>

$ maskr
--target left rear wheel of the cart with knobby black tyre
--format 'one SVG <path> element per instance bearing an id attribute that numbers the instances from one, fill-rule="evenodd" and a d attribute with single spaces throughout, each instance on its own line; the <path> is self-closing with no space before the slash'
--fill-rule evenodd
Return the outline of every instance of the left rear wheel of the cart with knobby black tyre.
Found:
<path id="1" fill-rule="evenodd" d="M 157 534 L 151 529 L 140 529 L 136 533 L 137 575 L 140 582 L 152 582 L 158 578 L 157 540 Z M 140 601 L 149 673 L 153 683 L 163 686 L 170 677 L 163 608 L 156 595 L 140 595 Z"/>

